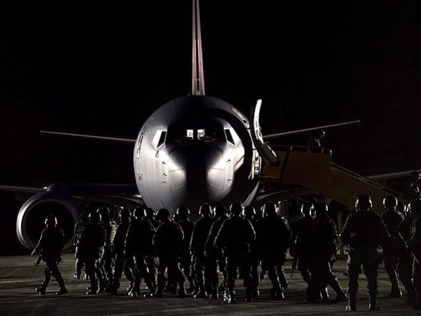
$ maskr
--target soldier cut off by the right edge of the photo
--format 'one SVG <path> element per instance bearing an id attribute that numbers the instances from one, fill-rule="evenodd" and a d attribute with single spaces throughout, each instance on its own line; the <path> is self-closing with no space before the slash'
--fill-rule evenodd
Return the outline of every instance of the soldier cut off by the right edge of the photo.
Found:
<path id="1" fill-rule="evenodd" d="M 417 293 L 415 302 L 411 305 L 413 309 L 421 309 L 421 208 L 420 202 L 417 202 L 417 205 L 412 204 L 412 213 L 414 216 L 414 221 L 411 226 L 411 235 L 408 241 L 408 249 L 411 251 L 413 256 L 413 266 L 412 266 L 412 275 L 413 275 L 413 284 Z"/>

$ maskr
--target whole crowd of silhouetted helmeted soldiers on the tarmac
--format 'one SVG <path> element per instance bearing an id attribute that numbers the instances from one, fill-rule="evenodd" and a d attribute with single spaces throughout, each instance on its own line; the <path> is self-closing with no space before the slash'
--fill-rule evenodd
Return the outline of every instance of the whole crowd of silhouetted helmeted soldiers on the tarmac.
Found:
<path id="1" fill-rule="evenodd" d="M 191 295 L 197 299 L 218 299 L 223 291 L 223 300 L 233 304 L 236 280 L 243 280 L 245 300 L 252 302 L 253 297 L 260 295 L 260 282 L 267 275 L 272 283 L 271 298 L 283 300 L 288 287 L 283 266 L 289 249 L 292 268 L 297 264 L 308 284 L 308 302 L 329 300 L 329 285 L 336 292 L 333 302 L 348 301 L 347 310 L 355 311 L 362 267 L 370 297 L 369 310 L 378 310 L 377 269 L 384 262 L 392 283 L 389 296 L 402 297 L 400 280 L 408 292 L 407 304 L 419 309 L 421 200 L 411 202 L 405 216 L 397 211 L 394 196 L 384 199 L 385 212 L 381 216 L 370 212 L 368 195 L 359 195 L 355 207 L 340 235 L 349 254 L 348 295 L 332 272 L 341 246 L 338 247 L 335 221 L 329 217 L 324 202 L 304 202 L 301 214 L 289 223 L 273 202 L 259 210 L 244 207 L 241 202 L 232 203 L 229 210 L 223 205 L 211 208 L 204 203 L 196 222 L 190 220 L 187 206 L 180 207 L 173 218 L 167 209 L 158 210 L 155 217 L 149 208 L 123 208 L 118 225 L 110 218 L 109 209 L 102 206 L 82 215 L 75 225 L 75 278 L 79 279 L 84 269 L 90 282 L 86 294 L 103 291 L 117 294 L 124 274 L 131 297 L 140 296 L 143 280 L 147 289 L 144 297 L 161 298 L 168 291 L 180 298 Z M 381 258 L 379 246 L 383 249 Z M 32 252 L 41 253 L 46 263 L 45 279 L 36 288 L 40 294 L 45 294 L 51 276 L 60 286 L 56 294 L 68 292 L 57 266 L 62 247 L 63 232 L 55 217 L 49 215 L 46 229 Z"/>

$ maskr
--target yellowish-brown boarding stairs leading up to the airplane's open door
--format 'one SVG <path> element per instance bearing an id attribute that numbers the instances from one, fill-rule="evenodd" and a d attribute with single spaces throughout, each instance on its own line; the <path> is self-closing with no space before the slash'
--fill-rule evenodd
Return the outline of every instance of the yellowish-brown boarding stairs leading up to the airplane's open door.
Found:
<path id="1" fill-rule="evenodd" d="M 370 178 L 332 163 L 332 152 L 329 149 L 280 146 L 274 147 L 279 163 L 264 166 L 262 176 L 265 180 L 299 184 L 317 195 L 331 198 L 350 209 L 355 207 L 359 194 L 368 194 L 373 202 L 372 211 L 384 211 L 383 199 L 394 195 L 404 203 L 413 197 L 384 186 Z"/>

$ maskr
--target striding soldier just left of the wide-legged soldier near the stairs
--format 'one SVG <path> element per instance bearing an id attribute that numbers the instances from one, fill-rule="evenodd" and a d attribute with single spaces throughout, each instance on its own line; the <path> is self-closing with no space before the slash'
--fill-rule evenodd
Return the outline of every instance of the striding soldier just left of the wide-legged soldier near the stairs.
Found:
<path id="1" fill-rule="evenodd" d="M 308 301 L 315 302 L 320 292 L 326 292 L 326 284 L 336 292 L 334 303 L 345 301 L 347 295 L 332 272 L 331 261 L 336 254 L 337 238 L 335 222 L 328 216 L 328 206 L 324 202 L 314 204 L 316 217 L 310 228 L 310 273 L 311 289 Z"/>

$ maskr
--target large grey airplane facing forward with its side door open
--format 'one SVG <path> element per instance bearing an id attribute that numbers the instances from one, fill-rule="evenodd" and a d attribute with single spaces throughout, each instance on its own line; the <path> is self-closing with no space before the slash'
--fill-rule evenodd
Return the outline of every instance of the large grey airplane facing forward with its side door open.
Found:
<path id="1" fill-rule="evenodd" d="M 16 234 L 24 246 L 34 248 L 46 212 L 54 212 L 68 237 L 64 249 L 71 249 L 74 224 L 88 202 L 122 207 L 144 205 L 154 211 L 166 208 L 171 214 L 187 205 L 197 215 L 204 202 L 229 205 L 242 201 L 249 205 L 257 197 L 263 201 L 265 197 L 280 199 L 310 192 L 288 182 L 265 183 L 264 166 L 281 165 L 279 155 L 265 141 L 359 121 L 262 135 L 262 100 L 252 106 L 250 123 L 235 106 L 205 94 L 199 0 L 193 0 L 192 15 L 192 92 L 154 111 L 136 139 L 41 131 L 134 146 L 136 184 L 0 186 L 1 190 L 33 194 L 21 206 L 16 220 Z"/>

